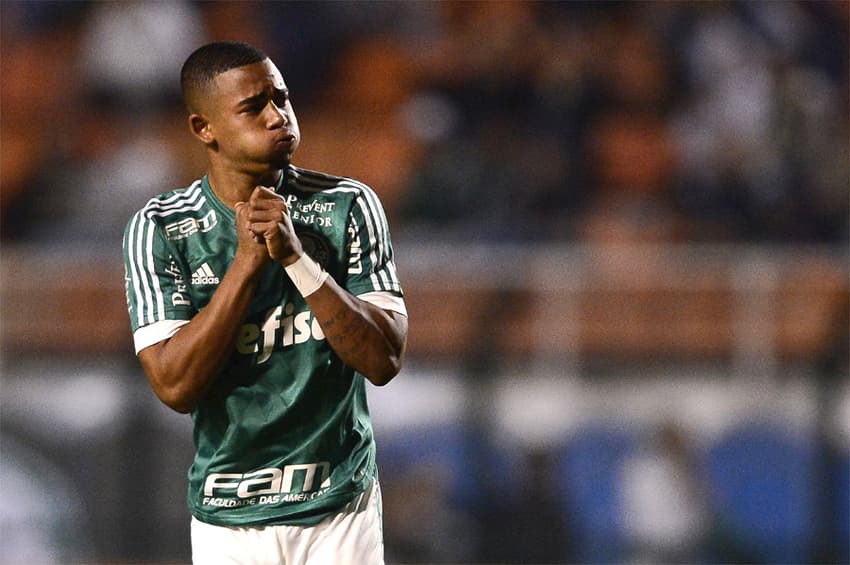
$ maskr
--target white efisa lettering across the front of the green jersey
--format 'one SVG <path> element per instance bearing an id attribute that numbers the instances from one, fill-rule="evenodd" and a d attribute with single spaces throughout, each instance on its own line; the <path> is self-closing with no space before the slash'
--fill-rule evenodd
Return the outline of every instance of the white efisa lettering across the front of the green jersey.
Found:
<path id="1" fill-rule="evenodd" d="M 275 345 L 290 347 L 306 343 L 310 339 L 325 339 L 319 321 L 309 309 L 296 314 L 295 304 L 287 302 L 286 306 L 269 310 L 262 327 L 257 324 L 244 324 L 236 340 L 236 350 L 243 355 L 253 355 L 259 351 L 259 344 L 262 343 L 262 353 L 257 357 L 259 365 L 269 360 Z"/>

